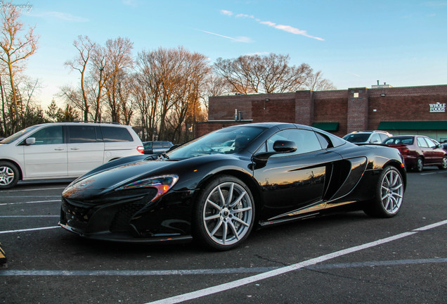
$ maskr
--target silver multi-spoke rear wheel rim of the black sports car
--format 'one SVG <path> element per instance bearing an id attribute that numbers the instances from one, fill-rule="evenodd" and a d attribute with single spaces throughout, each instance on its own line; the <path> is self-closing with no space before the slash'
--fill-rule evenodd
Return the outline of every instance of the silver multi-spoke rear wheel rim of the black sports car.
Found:
<path id="1" fill-rule="evenodd" d="M 382 179 L 382 205 L 389 214 L 395 214 L 401 208 L 403 200 L 403 182 L 396 170 L 389 170 Z"/>

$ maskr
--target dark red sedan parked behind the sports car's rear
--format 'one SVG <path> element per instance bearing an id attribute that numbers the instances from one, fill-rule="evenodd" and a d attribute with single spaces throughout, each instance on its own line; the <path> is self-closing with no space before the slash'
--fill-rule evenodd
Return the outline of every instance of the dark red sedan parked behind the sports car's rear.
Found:
<path id="1" fill-rule="evenodd" d="M 447 152 L 432 139 L 423 135 L 399 135 L 389 137 L 383 144 L 401 151 L 409 170 L 422 172 L 425 165 L 437 165 L 447 169 Z"/>

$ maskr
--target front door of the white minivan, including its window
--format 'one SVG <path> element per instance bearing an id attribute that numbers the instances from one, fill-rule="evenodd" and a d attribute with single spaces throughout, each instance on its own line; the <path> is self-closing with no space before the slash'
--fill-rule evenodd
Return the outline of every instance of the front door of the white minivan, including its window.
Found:
<path id="1" fill-rule="evenodd" d="M 49 125 L 29 137 L 35 143 L 23 146 L 25 179 L 67 177 L 67 144 L 63 142 L 63 126 Z"/>

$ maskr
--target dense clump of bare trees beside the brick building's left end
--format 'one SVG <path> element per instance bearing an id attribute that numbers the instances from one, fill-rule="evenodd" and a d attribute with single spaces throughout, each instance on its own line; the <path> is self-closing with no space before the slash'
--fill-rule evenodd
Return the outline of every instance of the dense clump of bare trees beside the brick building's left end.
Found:
<path id="1" fill-rule="evenodd" d="M 205 80 L 210 72 L 207 58 L 200 53 L 157 49 L 138 53 L 138 107 L 148 134 L 159 139 L 183 141 L 195 122 Z M 147 119 L 145 119 L 145 118 Z"/>

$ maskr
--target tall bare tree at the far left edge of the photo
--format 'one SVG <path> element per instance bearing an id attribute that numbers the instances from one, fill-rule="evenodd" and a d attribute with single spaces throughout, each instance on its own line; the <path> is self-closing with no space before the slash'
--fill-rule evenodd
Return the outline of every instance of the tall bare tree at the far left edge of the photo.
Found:
<path id="1" fill-rule="evenodd" d="M 38 37 L 34 35 L 34 28 L 23 33 L 24 25 L 19 20 L 20 10 L 12 4 L 2 5 L 1 36 L 0 36 L 0 60 L 6 65 L 9 84 L 11 85 L 11 100 L 13 101 L 13 120 L 11 121 L 12 132 L 16 131 L 20 124 L 18 103 L 20 96 L 15 84 L 15 77 L 24 68 L 25 61 L 37 50 Z"/>

